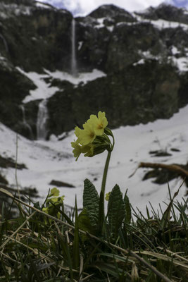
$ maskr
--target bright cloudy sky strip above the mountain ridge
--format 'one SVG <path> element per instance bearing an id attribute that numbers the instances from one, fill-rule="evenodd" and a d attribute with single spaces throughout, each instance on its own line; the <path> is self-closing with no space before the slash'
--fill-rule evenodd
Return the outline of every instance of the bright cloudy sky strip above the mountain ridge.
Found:
<path id="1" fill-rule="evenodd" d="M 65 8 L 75 16 L 85 16 L 104 4 L 114 4 L 127 11 L 142 11 L 149 6 L 158 6 L 165 2 L 177 7 L 188 9 L 188 0 L 38 0 L 49 3 L 57 8 Z"/>

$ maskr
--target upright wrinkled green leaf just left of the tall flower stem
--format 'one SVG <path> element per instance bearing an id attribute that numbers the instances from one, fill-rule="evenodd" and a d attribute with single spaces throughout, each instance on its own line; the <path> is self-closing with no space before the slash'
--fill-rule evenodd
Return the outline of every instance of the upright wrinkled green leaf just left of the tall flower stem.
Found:
<path id="1" fill-rule="evenodd" d="M 96 227 L 99 220 L 99 195 L 89 179 L 84 180 L 83 207 L 87 210 L 91 225 Z"/>

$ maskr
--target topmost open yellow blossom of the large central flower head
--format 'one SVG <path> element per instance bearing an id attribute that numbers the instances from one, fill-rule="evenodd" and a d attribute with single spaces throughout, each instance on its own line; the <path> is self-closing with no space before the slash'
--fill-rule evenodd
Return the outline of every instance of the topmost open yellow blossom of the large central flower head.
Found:
<path id="1" fill-rule="evenodd" d="M 93 126 L 96 135 L 102 135 L 104 133 L 104 128 L 108 125 L 105 112 L 102 113 L 101 111 L 99 111 L 98 117 L 96 115 L 91 115 L 87 123 Z"/>

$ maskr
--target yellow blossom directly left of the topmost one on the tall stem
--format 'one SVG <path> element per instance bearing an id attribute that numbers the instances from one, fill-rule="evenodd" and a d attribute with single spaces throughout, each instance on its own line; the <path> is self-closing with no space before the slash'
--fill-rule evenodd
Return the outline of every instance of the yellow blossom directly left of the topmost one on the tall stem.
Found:
<path id="1" fill-rule="evenodd" d="M 94 138 L 96 137 L 96 133 L 94 131 L 94 127 L 92 124 L 84 123 L 84 130 L 82 130 L 79 134 L 79 142 L 81 145 L 88 145 L 92 143 Z"/>

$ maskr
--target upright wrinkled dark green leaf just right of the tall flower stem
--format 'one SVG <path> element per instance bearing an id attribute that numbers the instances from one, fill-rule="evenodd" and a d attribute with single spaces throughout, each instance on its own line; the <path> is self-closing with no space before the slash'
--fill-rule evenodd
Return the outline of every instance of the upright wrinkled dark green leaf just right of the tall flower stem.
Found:
<path id="1" fill-rule="evenodd" d="M 118 234 L 118 229 L 122 225 L 125 218 L 125 202 L 123 200 L 122 192 L 116 184 L 109 196 L 108 201 L 108 222 L 111 233 Z"/>

